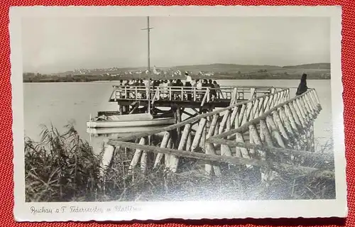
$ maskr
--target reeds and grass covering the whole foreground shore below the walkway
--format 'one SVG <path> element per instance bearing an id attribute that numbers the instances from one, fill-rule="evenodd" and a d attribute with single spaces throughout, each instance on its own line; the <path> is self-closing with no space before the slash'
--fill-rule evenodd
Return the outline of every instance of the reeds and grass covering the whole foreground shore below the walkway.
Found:
<path id="1" fill-rule="evenodd" d="M 102 178 L 103 154 L 95 155 L 73 126 L 65 126 L 65 133 L 54 126 L 42 127 L 39 142 L 24 140 L 26 202 L 335 198 L 334 179 L 317 179 L 302 172 L 280 172 L 280 177 L 260 182 L 254 170 L 226 165 L 222 177 L 210 177 L 198 171 L 201 164 L 195 160 L 185 160 L 184 171 L 177 173 L 167 172 L 163 165 L 146 175 L 139 167 L 129 172 L 133 150 L 116 152 Z M 322 149 L 320 152 L 332 152 L 332 143 Z M 307 165 L 317 167 L 319 163 Z"/>

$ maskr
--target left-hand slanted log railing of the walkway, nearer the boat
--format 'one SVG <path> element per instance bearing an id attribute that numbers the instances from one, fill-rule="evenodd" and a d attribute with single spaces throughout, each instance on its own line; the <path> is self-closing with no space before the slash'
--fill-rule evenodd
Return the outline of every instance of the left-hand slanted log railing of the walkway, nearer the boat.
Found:
<path id="1" fill-rule="evenodd" d="M 207 114 L 201 114 L 199 116 L 189 118 L 186 121 L 176 123 L 172 126 L 155 129 L 148 133 L 138 133 L 118 139 L 112 138 L 112 140 L 107 143 L 107 150 L 105 151 L 105 153 L 107 153 L 105 157 L 107 158 L 104 158 L 102 165 L 107 166 L 111 162 L 111 155 L 113 155 L 114 153 L 114 148 L 109 144 L 113 143 L 114 140 L 136 141 L 136 143 L 146 144 L 148 138 L 154 135 L 165 134 L 165 138 L 168 138 L 168 140 L 170 140 L 170 142 L 166 142 L 166 139 L 162 140 L 162 143 L 168 143 L 165 144 L 165 146 L 168 146 L 171 143 L 171 145 L 169 145 L 171 146 L 171 148 L 178 148 L 181 140 L 182 144 L 180 145 L 180 148 L 182 146 L 185 147 L 185 150 L 193 151 L 200 144 L 204 143 L 205 137 L 207 135 L 207 126 L 211 128 L 211 125 L 213 125 L 214 123 L 217 124 L 217 126 L 215 127 L 215 131 L 210 132 L 208 136 L 217 135 L 231 128 L 232 123 L 234 123 L 234 121 L 231 121 L 231 119 L 236 118 L 237 114 L 238 119 L 240 119 L 240 123 L 237 123 L 237 126 L 239 126 L 248 121 L 251 121 L 253 118 L 260 116 L 260 114 L 263 114 L 265 111 L 268 111 L 273 106 L 288 100 L 289 94 L 289 89 L 281 89 L 279 92 L 264 94 L 263 96 L 257 96 L 256 98 L 250 99 L 249 101 L 241 101 L 239 103 L 232 104 L 231 106 L 226 107 L 224 109 L 217 109 L 216 111 L 212 111 Z M 223 116 L 220 116 L 222 114 Z M 198 127 L 194 134 L 194 130 L 192 130 L 192 127 L 195 125 L 197 125 Z M 180 136 L 178 136 L 179 138 L 173 138 L 173 135 Z M 185 138 L 186 135 L 187 138 Z M 185 139 L 187 141 L 184 142 Z M 173 140 L 175 141 L 175 143 L 172 142 Z M 187 144 L 186 147 L 185 143 L 190 144 Z M 141 151 L 138 150 L 137 155 L 138 154 L 141 154 Z M 137 155 L 136 157 L 140 157 L 139 155 Z M 133 158 L 133 160 L 135 159 Z M 131 165 L 132 167 L 135 167 L 137 163 L 135 161 L 132 161 Z M 173 167 L 170 169 L 173 169 Z"/>

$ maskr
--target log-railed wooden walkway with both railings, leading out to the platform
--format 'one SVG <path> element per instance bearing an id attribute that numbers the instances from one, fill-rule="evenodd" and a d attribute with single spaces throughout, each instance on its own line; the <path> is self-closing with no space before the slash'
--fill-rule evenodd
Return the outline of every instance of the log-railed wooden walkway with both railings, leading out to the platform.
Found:
<path id="1" fill-rule="evenodd" d="M 249 90 L 249 99 L 229 100 L 228 107 L 148 133 L 107 139 L 102 175 L 114 154 L 130 149 L 134 155 L 129 169 L 138 167 L 143 174 L 156 167 L 180 172 L 180 160 L 191 159 L 205 163 L 205 175 L 221 176 L 221 168 L 231 165 L 256 168 L 261 180 L 283 171 L 334 178 L 332 154 L 315 153 L 313 122 L 322 110 L 315 89 L 292 99 L 287 88 L 263 95 L 254 95 L 256 88 Z M 233 99 L 237 93 L 230 94 Z M 194 125 L 197 130 L 192 130 Z M 302 165 L 305 160 L 324 165 Z"/>

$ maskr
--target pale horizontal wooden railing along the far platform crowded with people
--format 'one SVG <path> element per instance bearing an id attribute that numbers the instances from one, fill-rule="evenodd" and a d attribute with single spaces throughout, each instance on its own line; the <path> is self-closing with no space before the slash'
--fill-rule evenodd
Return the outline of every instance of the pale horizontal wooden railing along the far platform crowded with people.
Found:
<path id="1" fill-rule="evenodd" d="M 198 101 L 202 104 L 216 99 L 246 100 L 256 96 L 275 93 L 279 87 L 148 87 L 145 86 L 114 86 L 110 100 L 148 100 L 152 104 L 158 100 L 168 101 Z"/>

